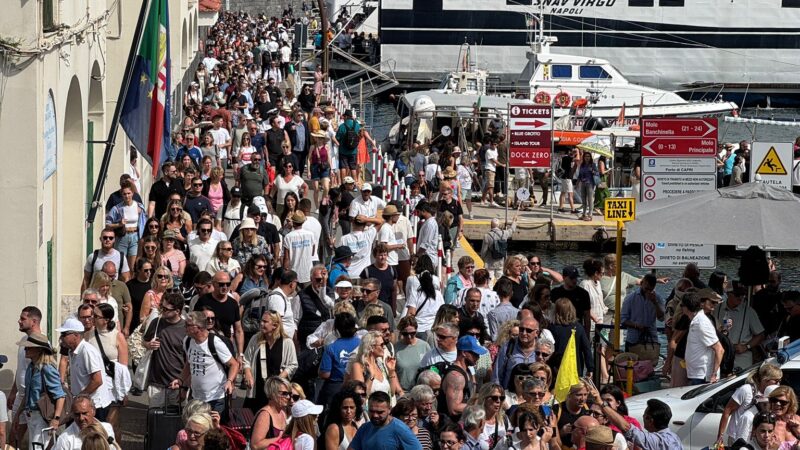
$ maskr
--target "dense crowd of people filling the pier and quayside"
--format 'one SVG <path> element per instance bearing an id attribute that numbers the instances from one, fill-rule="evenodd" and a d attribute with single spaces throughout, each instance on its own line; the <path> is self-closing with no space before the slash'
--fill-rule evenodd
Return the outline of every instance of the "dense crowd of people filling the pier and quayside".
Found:
<path id="1" fill-rule="evenodd" d="M 473 186 L 496 204 L 502 135 L 466 155 L 452 142 L 412 145 L 396 159 L 409 204 L 385 201 L 364 176 L 375 142 L 327 101 L 325 75 L 297 96 L 281 90 L 296 20 L 226 12 L 210 29 L 162 176 L 145 190 L 135 170 L 120 178 L 58 342 L 38 308 L 20 314 L 9 440 L 118 448 L 135 395 L 184 405 L 176 450 L 674 450 L 669 406 L 650 400 L 640 423 L 614 383 L 602 325 L 617 281 L 622 345 L 645 359 L 663 320 L 673 386 L 716 382 L 763 360 L 776 336 L 800 337 L 800 292 L 783 292 L 776 270 L 749 304 L 751 287 L 721 272 L 705 283 L 694 265 L 662 299 L 655 287 L 670 280 L 617 280 L 614 255 L 588 258 L 581 276 L 508 254 L 516 222 L 492 221 L 485 268 L 464 256 L 440 276 L 439 241 L 452 249 L 463 235 Z M 580 191 L 591 199 L 604 173 L 586 155 L 568 155 L 577 178 L 556 176 L 590 183 Z M 572 336 L 584 378 L 557 399 Z M 800 437 L 781 379 L 765 364 L 736 391 L 720 442 L 775 450 Z"/>

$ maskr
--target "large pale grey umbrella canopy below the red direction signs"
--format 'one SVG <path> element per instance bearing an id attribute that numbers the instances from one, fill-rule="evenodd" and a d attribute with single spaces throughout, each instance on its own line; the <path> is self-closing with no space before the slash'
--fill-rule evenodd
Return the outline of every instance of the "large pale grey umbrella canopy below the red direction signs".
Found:
<path id="1" fill-rule="evenodd" d="M 637 207 L 628 242 L 800 249 L 800 198 L 772 185 L 745 183 Z"/>

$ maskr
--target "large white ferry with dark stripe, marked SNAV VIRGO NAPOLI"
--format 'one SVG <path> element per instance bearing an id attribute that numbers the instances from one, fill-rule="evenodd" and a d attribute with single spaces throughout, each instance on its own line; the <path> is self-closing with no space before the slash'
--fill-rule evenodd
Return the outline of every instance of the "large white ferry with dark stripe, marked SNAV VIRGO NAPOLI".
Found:
<path id="1" fill-rule="evenodd" d="M 632 83 L 800 99 L 800 0 L 381 0 L 367 22 L 407 85 L 440 82 L 467 42 L 479 68 L 515 89 L 535 25 L 559 53 L 607 60 Z"/>

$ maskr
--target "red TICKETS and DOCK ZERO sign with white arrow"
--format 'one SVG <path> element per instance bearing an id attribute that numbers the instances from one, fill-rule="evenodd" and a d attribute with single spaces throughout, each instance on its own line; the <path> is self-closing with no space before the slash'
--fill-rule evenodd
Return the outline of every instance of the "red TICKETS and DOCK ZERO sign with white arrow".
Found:
<path id="1" fill-rule="evenodd" d="M 550 168 L 553 108 L 549 105 L 508 106 L 508 166 Z"/>

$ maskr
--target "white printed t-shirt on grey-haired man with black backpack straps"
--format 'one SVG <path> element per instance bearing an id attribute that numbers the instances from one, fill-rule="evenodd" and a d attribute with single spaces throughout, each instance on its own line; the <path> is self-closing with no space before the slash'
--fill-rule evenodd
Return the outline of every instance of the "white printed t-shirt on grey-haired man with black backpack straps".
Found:
<path id="1" fill-rule="evenodd" d="M 215 335 L 209 335 L 208 339 L 200 344 L 192 338 L 187 339 L 189 339 L 189 352 L 186 359 L 189 361 L 189 373 L 192 377 L 192 398 L 203 402 L 225 398 L 225 380 L 228 373 L 211 355 L 208 339 L 216 339 L 214 350 L 223 363 L 227 363 L 233 357 L 228 346 Z"/>

